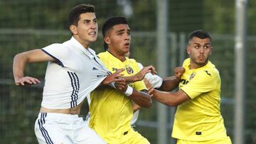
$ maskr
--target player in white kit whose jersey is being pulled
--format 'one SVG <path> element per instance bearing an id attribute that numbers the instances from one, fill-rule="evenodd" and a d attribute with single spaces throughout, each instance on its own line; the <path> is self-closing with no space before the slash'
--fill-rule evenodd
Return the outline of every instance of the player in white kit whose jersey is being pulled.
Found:
<path id="1" fill-rule="evenodd" d="M 15 83 L 40 83 L 38 79 L 23 74 L 23 71 L 28 62 L 48 61 L 43 101 L 35 123 L 38 143 L 105 143 L 78 114 L 85 96 L 100 84 L 125 84 L 124 79 L 119 78 L 122 70 L 110 74 L 95 51 L 89 48 L 98 33 L 94 6 L 75 6 L 69 13 L 68 21 L 73 34 L 70 40 L 48 45 L 41 50 L 22 52 L 14 57 Z"/>

